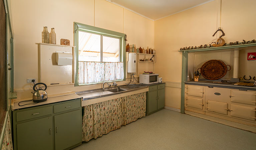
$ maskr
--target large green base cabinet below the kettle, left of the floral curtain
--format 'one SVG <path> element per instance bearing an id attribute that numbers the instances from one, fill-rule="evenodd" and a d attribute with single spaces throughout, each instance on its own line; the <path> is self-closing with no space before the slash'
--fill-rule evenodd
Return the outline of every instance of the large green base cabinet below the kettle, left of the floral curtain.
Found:
<path id="1" fill-rule="evenodd" d="M 14 110 L 14 150 L 64 150 L 82 142 L 81 99 Z"/>

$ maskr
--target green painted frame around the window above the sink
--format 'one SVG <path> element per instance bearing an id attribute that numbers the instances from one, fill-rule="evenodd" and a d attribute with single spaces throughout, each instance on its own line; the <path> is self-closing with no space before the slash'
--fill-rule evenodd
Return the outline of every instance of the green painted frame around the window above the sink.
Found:
<path id="1" fill-rule="evenodd" d="M 120 51 L 119 51 L 119 61 L 123 62 L 123 71 L 124 71 L 124 78 L 123 80 L 116 80 L 116 81 L 125 81 L 125 34 L 107 30 L 107 29 L 102 29 L 78 22 L 74 22 L 74 82 L 75 86 L 81 86 L 81 85 L 90 85 L 90 84 L 98 84 L 98 83 L 88 83 L 88 84 L 79 84 L 78 83 L 78 31 L 83 31 L 83 32 L 88 32 L 92 34 L 99 34 L 107 37 L 113 37 L 113 38 L 118 38 L 120 39 Z M 109 82 L 114 82 L 114 81 L 109 81 Z"/>

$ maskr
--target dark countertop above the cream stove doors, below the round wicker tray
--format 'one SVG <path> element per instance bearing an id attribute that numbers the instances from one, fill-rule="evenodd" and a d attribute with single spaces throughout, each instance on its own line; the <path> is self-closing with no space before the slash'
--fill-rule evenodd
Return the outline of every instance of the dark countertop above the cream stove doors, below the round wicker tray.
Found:
<path id="1" fill-rule="evenodd" d="M 185 84 L 256 91 L 256 86 L 240 86 L 234 85 L 235 83 L 213 83 L 213 81 L 185 81 Z"/>

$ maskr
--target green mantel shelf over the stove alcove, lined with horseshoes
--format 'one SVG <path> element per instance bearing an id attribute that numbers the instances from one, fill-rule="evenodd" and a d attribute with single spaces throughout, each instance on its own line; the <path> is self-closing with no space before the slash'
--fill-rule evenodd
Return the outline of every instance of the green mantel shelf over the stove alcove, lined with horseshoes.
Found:
<path id="1" fill-rule="evenodd" d="M 208 48 L 200 48 L 200 49 L 190 49 L 190 50 L 181 50 L 179 52 L 200 52 L 200 51 L 212 51 L 212 50 L 222 50 L 222 49 L 239 49 L 244 47 L 252 47 L 256 46 L 256 43 L 251 44 L 240 44 L 240 45 L 231 45 L 231 46 L 221 46 L 221 47 L 208 47 Z"/>

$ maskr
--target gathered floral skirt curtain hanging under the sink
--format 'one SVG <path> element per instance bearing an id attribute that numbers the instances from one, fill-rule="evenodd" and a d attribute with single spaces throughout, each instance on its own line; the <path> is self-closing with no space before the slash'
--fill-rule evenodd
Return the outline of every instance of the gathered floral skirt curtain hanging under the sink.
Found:
<path id="1" fill-rule="evenodd" d="M 82 139 L 96 139 L 145 115 L 146 92 L 85 106 Z"/>

